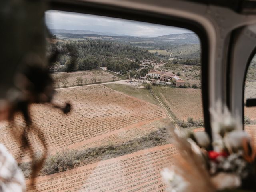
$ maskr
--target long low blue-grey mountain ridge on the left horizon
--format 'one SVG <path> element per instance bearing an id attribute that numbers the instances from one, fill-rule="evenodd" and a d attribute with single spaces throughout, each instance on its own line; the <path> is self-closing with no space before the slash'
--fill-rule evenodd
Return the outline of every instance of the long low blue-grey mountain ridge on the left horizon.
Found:
<path id="1" fill-rule="evenodd" d="M 69 29 L 49 29 L 52 34 L 79 34 L 79 35 L 86 35 L 86 34 L 95 34 L 95 35 L 102 35 L 102 36 L 123 36 L 123 37 L 132 37 L 130 35 L 119 35 L 115 33 L 109 32 L 97 32 L 97 31 L 90 31 L 90 30 L 69 30 Z"/>

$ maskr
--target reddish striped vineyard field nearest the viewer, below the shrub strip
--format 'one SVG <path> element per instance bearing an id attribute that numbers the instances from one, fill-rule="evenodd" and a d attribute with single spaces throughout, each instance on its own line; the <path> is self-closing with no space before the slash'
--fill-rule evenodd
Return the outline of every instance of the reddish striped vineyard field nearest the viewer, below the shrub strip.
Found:
<path id="1" fill-rule="evenodd" d="M 166 184 L 162 182 L 160 171 L 173 164 L 175 154 L 176 148 L 168 144 L 50 176 L 41 176 L 36 178 L 36 191 L 165 191 Z M 27 186 L 27 191 L 32 191 L 32 188 Z"/>

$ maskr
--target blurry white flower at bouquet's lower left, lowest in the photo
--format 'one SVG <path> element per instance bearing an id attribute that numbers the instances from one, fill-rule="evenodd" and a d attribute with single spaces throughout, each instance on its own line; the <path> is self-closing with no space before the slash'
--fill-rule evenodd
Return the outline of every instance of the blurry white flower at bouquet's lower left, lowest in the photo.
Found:
<path id="1" fill-rule="evenodd" d="M 173 170 L 164 168 L 161 172 L 164 182 L 169 186 L 168 192 L 188 192 L 188 182 L 186 182 L 180 175 L 176 174 Z"/>

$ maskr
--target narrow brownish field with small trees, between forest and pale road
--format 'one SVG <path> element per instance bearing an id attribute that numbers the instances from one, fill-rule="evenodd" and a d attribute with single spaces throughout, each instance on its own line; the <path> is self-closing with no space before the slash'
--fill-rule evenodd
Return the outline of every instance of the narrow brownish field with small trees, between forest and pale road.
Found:
<path id="1" fill-rule="evenodd" d="M 121 80 L 119 77 L 112 75 L 103 70 L 91 70 L 91 71 L 77 71 L 77 72 L 58 72 L 53 73 L 52 77 L 55 81 L 55 88 L 64 87 L 63 80 L 67 80 L 67 87 L 81 85 L 76 82 L 76 78 L 82 77 L 83 82 L 82 85 L 93 84 L 93 83 L 102 83 L 102 82 L 110 82 L 114 80 Z"/>

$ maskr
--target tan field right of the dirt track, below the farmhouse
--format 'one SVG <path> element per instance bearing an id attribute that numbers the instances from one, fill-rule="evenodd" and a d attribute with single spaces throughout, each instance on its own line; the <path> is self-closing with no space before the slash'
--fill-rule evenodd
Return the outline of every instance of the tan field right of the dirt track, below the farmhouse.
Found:
<path id="1" fill-rule="evenodd" d="M 203 119 L 202 96 L 200 89 L 173 88 L 168 86 L 154 87 L 164 103 L 179 119 L 186 121 Z"/>

